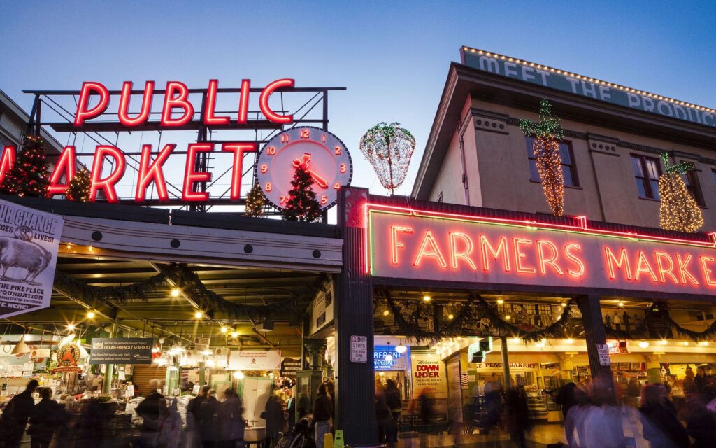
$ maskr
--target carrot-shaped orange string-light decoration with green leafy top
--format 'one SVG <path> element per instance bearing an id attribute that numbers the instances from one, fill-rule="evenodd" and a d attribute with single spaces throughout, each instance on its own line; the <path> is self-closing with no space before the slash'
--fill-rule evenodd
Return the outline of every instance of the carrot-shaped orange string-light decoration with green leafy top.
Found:
<path id="1" fill-rule="evenodd" d="M 532 151 L 537 171 L 542 180 L 542 191 L 555 216 L 564 212 L 564 178 L 562 176 L 559 141 L 563 130 L 559 118 L 552 115 L 552 105 L 542 100 L 539 105 L 539 121 L 521 120 L 520 129 L 525 135 L 534 135 Z"/>

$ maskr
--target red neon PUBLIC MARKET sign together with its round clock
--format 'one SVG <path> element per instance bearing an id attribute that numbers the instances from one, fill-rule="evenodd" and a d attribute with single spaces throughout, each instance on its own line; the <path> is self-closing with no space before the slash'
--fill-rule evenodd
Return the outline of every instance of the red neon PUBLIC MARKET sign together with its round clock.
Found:
<path id="1" fill-rule="evenodd" d="M 326 209 L 332 206 L 339 189 L 349 185 L 351 181 L 352 161 L 346 146 L 336 135 L 320 128 L 296 126 L 298 123 L 294 120 L 294 115 L 271 108 L 271 95 L 276 92 L 281 95 L 284 92 L 293 92 L 294 84 L 294 80 L 286 78 L 270 82 L 261 89 L 251 89 L 251 80 L 242 80 L 240 88 L 221 90 L 218 88 L 218 80 L 210 80 L 206 89 L 190 90 L 183 82 L 170 81 L 162 91 L 155 90 L 154 81 L 147 81 L 143 90 L 136 91 L 132 90 L 132 82 L 127 81 L 122 85 L 121 91 L 112 92 L 100 82 L 84 82 L 82 89 L 77 92 L 77 109 L 71 125 L 74 132 L 92 130 L 92 125 L 112 125 L 112 130 L 117 132 L 142 130 L 142 126 L 148 124 L 161 131 L 195 130 L 198 126 L 207 129 L 243 126 L 251 129 L 253 123 L 264 127 L 269 123 L 269 128 L 294 125 L 289 130 L 274 135 L 263 148 L 259 148 L 256 141 L 222 140 L 221 143 L 189 143 L 183 148 L 185 151 L 178 151 L 177 144 L 169 141 L 157 148 L 150 144 L 132 148 L 133 151 L 139 150 L 138 156 L 135 157 L 134 153 L 126 153 L 117 146 L 99 144 L 94 154 L 89 154 L 93 156 L 92 163 L 87 163 L 87 166 L 91 167 L 90 201 L 102 198 L 107 202 L 120 202 L 117 186 L 125 185 L 127 178 L 132 178 L 134 197 L 122 201 L 144 204 L 148 200 L 149 190 L 155 191 L 153 197 L 160 203 L 170 200 L 185 203 L 211 202 L 210 192 L 198 186 L 211 185 L 216 179 L 211 171 L 200 168 L 199 160 L 211 156 L 211 153 L 224 153 L 231 159 L 230 166 L 221 167 L 222 172 L 226 171 L 227 176 L 224 178 L 228 178 L 229 184 L 226 199 L 229 202 L 238 202 L 241 199 L 242 176 L 252 171 L 247 169 L 251 167 L 244 166 L 244 156 L 254 153 L 256 156 L 252 160 L 257 161 L 253 170 L 254 176 L 274 206 L 282 208 L 286 204 L 291 179 L 299 166 L 311 174 L 311 188 L 321 207 Z M 217 107 L 217 97 L 220 93 L 233 95 L 233 100 L 236 101 L 233 113 L 218 111 L 220 108 Z M 190 94 L 201 94 L 200 103 L 191 100 Z M 110 104 L 112 95 L 118 100 L 114 105 Z M 249 100 L 252 98 L 258 100 L 260 114 L 252 111 L 250 118 Z M 161 113 L 155 113 L 160 118 L 150 122 L 153 115 L 152 103 L 156 99 L 160 99 L 162 104 Z M 130 105 L 136 109 L 132 113 Z M 195 120 L 195 115 L 198 115 L 198 120 Z M 254 115 L 259 118 L 253 118 Z M 108 117 L 116 117 L 118 122 L 108 123 Z M 0 158 L 0 178 L 14 164 L 15 151 L 14 146 L 4 147 Z M 183 155 L 178 154 L 180 152 Z M 74 146 L 64 147 L 50 176 L 49 196 L 64 194 L 69 180 L 77 173 L 77 157 L 84 155 L 78 154 Z M 165 173 L 165 163 L 170 158 L 180 157 L 183 157 L 181 165 L 184 168 L 183 178 L 180 179 L 181 186 L 178 187 L 180 191 L 172 191 L 170 196 L 166 177 L 169 170 Z M 127 163 L 132 160 L 135 162 L 136 173 L 125 176 Z"/>

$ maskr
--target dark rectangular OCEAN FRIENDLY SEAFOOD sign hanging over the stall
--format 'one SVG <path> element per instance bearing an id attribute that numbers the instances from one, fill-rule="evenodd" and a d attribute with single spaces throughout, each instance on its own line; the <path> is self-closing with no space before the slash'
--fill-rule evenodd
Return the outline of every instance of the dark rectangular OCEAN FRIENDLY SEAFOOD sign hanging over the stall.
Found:
<path id="1" fill-rule="evenodd" d="M 90 364 L 151 364 L 152 338 L 92 338 Z"/>

